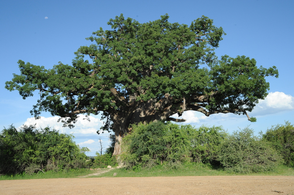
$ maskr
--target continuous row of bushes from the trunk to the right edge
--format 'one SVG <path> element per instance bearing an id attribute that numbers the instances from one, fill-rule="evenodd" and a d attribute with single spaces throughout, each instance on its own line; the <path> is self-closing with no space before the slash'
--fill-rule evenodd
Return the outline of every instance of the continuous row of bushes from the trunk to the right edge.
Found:
<path id="1" fill-rule="evenodd" d="M 249 127 L 228 134 L 221 126 L 140 124 L 123 138 L 120 159 L 133 170 L 203 163 L 228 172 L 268 172 L 280 164 L 294 166 L 294 127 L 286 122 L 255 136 Z"/>

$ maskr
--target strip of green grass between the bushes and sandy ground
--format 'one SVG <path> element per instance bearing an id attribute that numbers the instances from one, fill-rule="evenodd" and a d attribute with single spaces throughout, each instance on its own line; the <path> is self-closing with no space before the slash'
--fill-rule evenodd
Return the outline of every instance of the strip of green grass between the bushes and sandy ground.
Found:
<path id="1" fill-rule="evenodd" d="M 39 172 L 34 175 L 18 174 L 18 175 L 2 175 L 0 180 L 10 179 L 50 179 L 50 178 L 78 178 L 83 175 L 89 175 L 96 171 L 89 169 L 72 169 L 60 172 Z M 117 173 L 113 176 L 113 173 Z M 113 169 L 101 175 L 90 177 L 175 177 L 175 176 L 219 176 L 219 175 L 260 175 L 260 176 L 294 176 L 294 169 L 285 165 L 280 165 L 273 172 L 251 173 L 251 174 L 230 174 L 222 169 L 213 169 L 206 165 L 188 164 L 178 169 L 166 169 L 164 167 L 153 167 L 151 169 L 125 170 Z"/>

